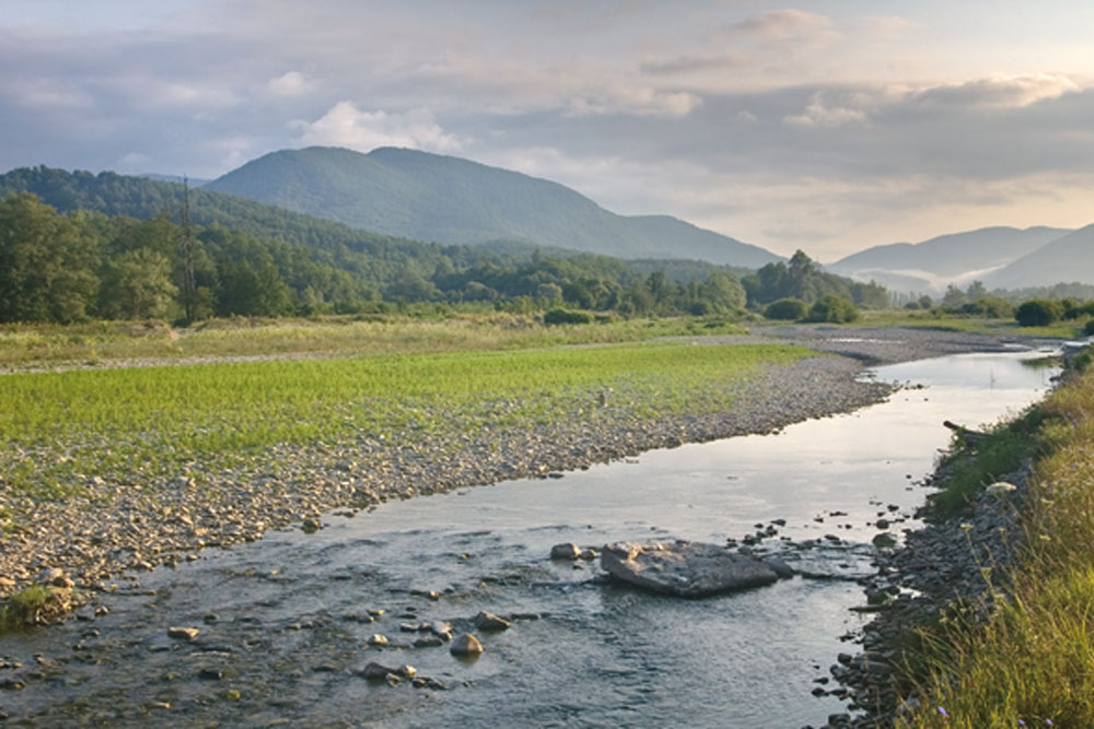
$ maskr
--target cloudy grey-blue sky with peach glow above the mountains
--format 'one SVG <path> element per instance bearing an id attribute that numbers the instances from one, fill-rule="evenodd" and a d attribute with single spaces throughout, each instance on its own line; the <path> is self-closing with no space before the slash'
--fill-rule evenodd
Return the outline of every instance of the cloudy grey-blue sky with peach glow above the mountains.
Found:
<path id="1" fill-rule="evenodd" d="M 0 172 L 407 146 L 829 262 L 1094 223 L 1092 33 L 1089 0 L 0 0 Z"/>

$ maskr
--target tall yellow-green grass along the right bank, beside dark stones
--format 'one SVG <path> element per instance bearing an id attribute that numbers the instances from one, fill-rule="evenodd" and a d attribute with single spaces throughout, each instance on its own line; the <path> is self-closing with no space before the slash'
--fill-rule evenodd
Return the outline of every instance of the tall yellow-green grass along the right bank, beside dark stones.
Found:
<path id="1" fill-rule="evenodd" d="M 1036 420 L 1012 590 L 987 625 L 930 633 L 928 698 L 900 726 L 1094 726 L 1094 367 Z"/>

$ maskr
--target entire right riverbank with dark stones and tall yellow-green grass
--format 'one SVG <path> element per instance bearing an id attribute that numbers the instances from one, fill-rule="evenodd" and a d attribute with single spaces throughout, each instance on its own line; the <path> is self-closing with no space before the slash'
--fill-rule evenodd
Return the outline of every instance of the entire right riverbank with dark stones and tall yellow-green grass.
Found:
<path id="1" fill-rule="evenodd" d="M 1094 369 L 1080 363 L 1022 418 L 967 438 L 933 478 L 930 522 L 883 552 L 866 596 L 881 596 L 863 652 L 833 667 L 852 709 L 834 727 L 1091 726 L 1094 680 Z M 1085 372 L 1082 372 L 1085 368 Z M 1032 458 L 992 470 L 992 440 L 1020 437 Z M 985 486 L 989 483 L 991 485 Z M 895 598 L 893 598 L 895 596 Z M 893 599 L 888 599 L 893 598 Z"/>

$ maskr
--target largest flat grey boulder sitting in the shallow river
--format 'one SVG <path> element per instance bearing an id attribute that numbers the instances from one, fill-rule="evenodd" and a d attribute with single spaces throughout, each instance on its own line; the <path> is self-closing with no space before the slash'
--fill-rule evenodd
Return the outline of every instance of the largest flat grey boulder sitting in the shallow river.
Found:
<path id="1" fill-rule="evenodd" d="M 618 542 L 605 545 L 601 566 L 612 577 L 654 592 L 698 598 L 770 585 L 779 579 L 759 560 L 718 544 Z"/>

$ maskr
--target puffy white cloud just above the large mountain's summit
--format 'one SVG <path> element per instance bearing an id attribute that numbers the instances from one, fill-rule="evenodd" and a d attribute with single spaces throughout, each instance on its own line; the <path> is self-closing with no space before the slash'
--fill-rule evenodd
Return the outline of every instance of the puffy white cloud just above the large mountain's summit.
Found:
<path id="1" fill-rule="evenodd" d="M 458 152 L 464 142 L 445 133 L 429 109 L 406 114 L 362 111 L 352 102 L 338 102 L 315 121 L 292 121 L 305 144 L 347 146 L 369 152 L 377 146 L 408 146 L 430 152 Z"/>

